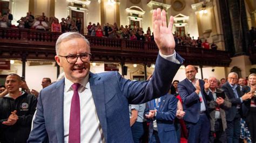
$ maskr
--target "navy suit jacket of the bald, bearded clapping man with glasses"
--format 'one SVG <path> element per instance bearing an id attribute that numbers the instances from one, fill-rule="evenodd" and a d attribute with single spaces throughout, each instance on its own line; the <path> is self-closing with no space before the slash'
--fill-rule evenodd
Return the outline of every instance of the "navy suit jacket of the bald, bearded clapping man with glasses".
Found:
<path id="1" fill-rule="evenodd" d="M 204 91 L 204 81 L 199 80 L 199 85 L 206 106 L 206 114 L 208 116 L 206 101 L 207 95 Z M 196 88 L 187 78 L 185 78 L 185 80 L 178 83 L 178 91 L 183 102 L 183 110 L 186 112 L 184 120 L 191 123 L 197 123 L 200 116 L 201 103 L 198 94 L 195 92 Z"/>

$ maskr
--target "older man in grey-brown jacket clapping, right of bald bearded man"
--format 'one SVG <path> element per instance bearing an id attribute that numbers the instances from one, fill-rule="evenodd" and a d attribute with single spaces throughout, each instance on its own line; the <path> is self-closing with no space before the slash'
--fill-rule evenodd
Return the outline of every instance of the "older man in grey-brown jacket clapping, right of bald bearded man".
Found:
<path id="1" fill-rule="evenodd" d="M 208 82 L 211 85 L 205 90 L 209 96 L 207 98 L 207 104 L 211 121 L 210 142 L 225 143 L 227 142 L 225 133 L 227 128 L 225 109 L 231 107 L 231 102 L 225 92 L 217 88 L 217 78 L 209 77 Z"/>

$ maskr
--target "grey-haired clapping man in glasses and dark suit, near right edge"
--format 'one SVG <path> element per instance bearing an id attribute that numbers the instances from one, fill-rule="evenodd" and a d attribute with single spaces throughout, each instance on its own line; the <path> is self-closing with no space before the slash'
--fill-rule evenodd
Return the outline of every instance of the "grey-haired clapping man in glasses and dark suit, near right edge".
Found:
<path id="1" fill-rule="evenodd" d="M 242 96 L 241 90 L 239 85 L 237 84 L 238 81 L 238 74 L 237 73 L 230 73 L 228 74 L 227 81 L 221 87 L 225 94 L 227 95 L 228 99 L 232 103 L 230 109 L 226 109 L 226 120 L 227 120 L 227 142 L 228 143 L 238 143 L 240 138 L 240 130 L 241 130 L 241 116 L 242 116 L 242 104 L 247 99 L 252 98 L 252 94 L 249 92 Z"/>

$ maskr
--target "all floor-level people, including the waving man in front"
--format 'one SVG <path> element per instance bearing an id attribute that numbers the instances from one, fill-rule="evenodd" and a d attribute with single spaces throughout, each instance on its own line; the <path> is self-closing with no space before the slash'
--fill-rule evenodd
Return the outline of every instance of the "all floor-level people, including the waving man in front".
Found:
<path id="1" fill-rule="evenodd" d="M 51 85 L 44 78 L 39 95 L 9 74 L 0 87 L 0 142 L 140 142 L 144 133 L 144 142 L 180 142 L 181 134 L 187 142 L 255 142 L 256 74 L 248 85 L 235 72 L 203 81 L 188 65 L 186 78 L 173 81 L 184 64 L 174 51 L 173 17 L 167 26 L 158 8 L 152 19 L 159 54 L 147 81 L 91 73 L 90 43 L 78 32 L 57 39 L 55 60 L 65 76 Z"/>

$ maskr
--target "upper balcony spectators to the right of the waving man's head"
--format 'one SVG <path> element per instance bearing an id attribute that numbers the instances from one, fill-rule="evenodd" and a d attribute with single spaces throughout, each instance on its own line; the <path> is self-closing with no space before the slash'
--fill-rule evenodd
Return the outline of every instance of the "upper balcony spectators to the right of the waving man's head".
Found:
<path id="1" fill-rule="evenodd" d="M 109 38 L 120 38 L 127 40 L 140 40 L 140 41 L 154 41 L 154 33 L 151 32 L 150 27 L 147 27 L 146 33 L 144 33 L 143 28 L 137 25 L 121 25 L 117 26 L 117 23 L 109 24 L 106 23 L 104 26 L 101 26 L 99 23 L 92 24 L 91 22 L 87 25 L 87 35 L 92 35 L 96 37 L 109 37 Z M 177 45 L 181 46 L 192 46 L 206 49 L 217 49 L 218 46 L 212 42 L 210 45 L 207 42 L 207 39 L 202 42 L 202 40 L 198 37 L 198 39 L 194 39 L 194 37 L 190 37 L 190 34 L 180 35 L 177 32 L 174 34 L 174 40 Z"/>

